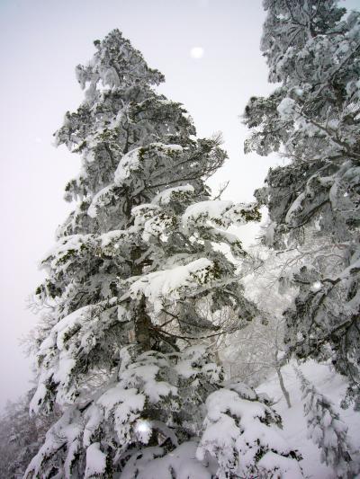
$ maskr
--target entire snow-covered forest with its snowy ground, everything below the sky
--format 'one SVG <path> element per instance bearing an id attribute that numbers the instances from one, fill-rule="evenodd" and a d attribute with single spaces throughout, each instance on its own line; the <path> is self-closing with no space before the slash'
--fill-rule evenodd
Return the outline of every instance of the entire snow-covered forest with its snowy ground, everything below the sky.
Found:
<path id="1" fill-rule="evenodd" d="M 263 8 L 272 91 L 238 113 L 245 159 L 281 162 L 255 200 L 211 189 L 220 132 L 197 134 L 120 30 L 76 66 L 83 98 L 54 137 L 80 169 L 0 477 L 360 477 L 360 12 Z"/>

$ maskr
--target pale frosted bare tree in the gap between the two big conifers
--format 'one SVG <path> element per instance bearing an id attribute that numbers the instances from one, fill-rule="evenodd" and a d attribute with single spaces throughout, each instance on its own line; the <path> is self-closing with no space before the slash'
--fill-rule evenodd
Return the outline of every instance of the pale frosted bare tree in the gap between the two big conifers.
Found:
<path id="1" fill-rule="evenodd" d="M 257 305 L 258 315 L 246 328 L 225 335 L 220 348 L 230 377 L 249 386 L 258 386 L 275 372 L 288 407 L 291 400 L 282 372 L 288 360 L 282 314 L 293 299 L 294 289 L 284 280 L 293 262 L 302 262 L 298 253 L 276 254 L 261 244 L 249 248 L 241 271 L 246 274 L 247 297 Z"/>

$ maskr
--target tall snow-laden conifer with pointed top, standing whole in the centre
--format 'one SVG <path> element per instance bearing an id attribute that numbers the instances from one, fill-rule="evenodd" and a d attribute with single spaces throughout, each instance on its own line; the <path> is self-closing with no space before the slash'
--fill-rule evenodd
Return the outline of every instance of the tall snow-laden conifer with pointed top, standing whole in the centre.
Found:
<path id="1" fill-rule="evenodd" d="M 213 244 L 241 258 L 225 230 L 257 220 L 257 208 L 210 200 L 205 180 L 226 157 L 218 140 L 194 137 L 182 106 L 153 89 L 163 76 L 120 31 L 94 44 L 76 69 L 85 101 L 56 134 L 82 155 L 66 188 L 78 203 L 37 290 L 53 313 L 39 331 L 31 409 L 63 413 L 27 477 L 300 476 L 269 427 L 275 412 L 221 387 L 206 347 L 220 332 L 198 314 L 211 301 L 240 324 L 256 315 Z"/>

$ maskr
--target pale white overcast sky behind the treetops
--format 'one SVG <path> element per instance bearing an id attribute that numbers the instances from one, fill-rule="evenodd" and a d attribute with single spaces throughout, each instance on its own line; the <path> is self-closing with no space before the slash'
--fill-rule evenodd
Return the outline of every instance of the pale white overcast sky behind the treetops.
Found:
<path id="1" fill-rule="evenodd" d="M 359 0 L 343 4 L 358 8 Z M 239 119 L 251 95 L 273 89 L 259 51 L 264 16 L 261 0 L 0 0 L 0 408 L 29 388 L 31 361 L 19 338 L 37 317 L 25 300 L 70 210 L 63 189 L 79 160 L 51 142 L 83 98 L 76 65 L 91 58 L 93 40 L 120 29 L 166 76 L 160 91 L 184 103 L 198 135 L 222 131 L 229 160 L 211 186 L 230 180 L 224 198 L 252 200 L 279 161 L 243 154 Z M 202 58 L 193 58 L 199 48 Z M 247 243 L 255 233 L 247 230 Z"/>

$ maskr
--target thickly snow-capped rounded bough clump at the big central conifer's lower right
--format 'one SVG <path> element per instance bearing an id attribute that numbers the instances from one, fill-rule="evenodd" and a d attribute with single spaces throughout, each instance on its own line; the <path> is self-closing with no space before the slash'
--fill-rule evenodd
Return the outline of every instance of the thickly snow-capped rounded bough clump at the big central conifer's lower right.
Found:
<path id="1" fill-rule="evenodd" d="M 266 415 L 273 412 L 257 401 L 241 398 L 237 392 L 229 389 L 215 391 L 206 399 L 207 415 L 204 431 L 196 457 L 203 460 L 209 453 L 219 463 L 217 477 L 225 479 L 230 469 L 234 477 L 248 477 L 248 472 L 256 462 L 258 449 L 274 450 L 280 454 L 289 454 L 291 448 L 279 434 L 275 426 L 268 427 Z M 279 459 L 277 459 L 279 457 Z M 292 464 L 291 464 L 292 463 Z M 268 457 L 263 467 L 266 477 L 276 468 L 284 479 L 300 479 L 301 470 L 296 460 L 283 460 L 278 454 Z"/>

